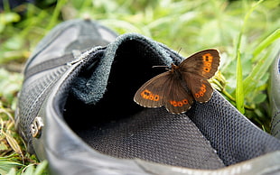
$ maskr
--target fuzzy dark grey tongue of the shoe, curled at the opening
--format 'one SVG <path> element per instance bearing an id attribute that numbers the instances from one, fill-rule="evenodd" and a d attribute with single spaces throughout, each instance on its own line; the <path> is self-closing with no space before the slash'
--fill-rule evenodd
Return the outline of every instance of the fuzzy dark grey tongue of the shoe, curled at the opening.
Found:
<path id="1" fill-rule="evenodd" d="M 171 51 L 162 43 L 143 35 L 137 33 L 120 35 L 116 41 L 107 46 L 103 57 L 97 63 L 98 65 L 94 66 L 95 69 L 88 69 L 86 70 L 88 72 L 82 72 L 79 75 L 73 84 L 72 93 L 83 103 L 95 105 L 104 97 L 108 90 L 108 84 L 116 83 L 116 85 L 112 85 L 110 90 L 113 87 L 120 88 L 120 83 L 128 83 L 128 86 L 133 88 L 135 84 L 129 82 L 135 81 L 134 74 L 137 74 L 136 77 L 140 79 L 142 79 L 141 74 L 143 74 L 142 77 L 148 80 L 145 77 L 152 78 L 156 74 L 166 71 L 160 68 L 152 69 L 153 66 L 170 66 L 172 62 L 180 62 L 181 60 L 182 58 L 175 51 Z M 123 78 L 119 78 L 121 76 Z M 127 80 L 124 81 L 124 79 Z M 136 84 L 139 86 L 139 83 Z"/>

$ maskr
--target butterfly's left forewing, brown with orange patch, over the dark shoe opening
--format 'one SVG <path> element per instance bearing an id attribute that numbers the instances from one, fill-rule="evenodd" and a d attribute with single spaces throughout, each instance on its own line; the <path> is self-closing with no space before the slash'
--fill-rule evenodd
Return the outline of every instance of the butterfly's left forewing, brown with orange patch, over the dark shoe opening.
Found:
<path id="1" fill-rule="evenodd" d="M 164 72 L 151 78 L 137 90 L 134 100 L 140 106 L 159 107 L 163 106 L 164 85 L 169 81 L 170 72 Z"/>

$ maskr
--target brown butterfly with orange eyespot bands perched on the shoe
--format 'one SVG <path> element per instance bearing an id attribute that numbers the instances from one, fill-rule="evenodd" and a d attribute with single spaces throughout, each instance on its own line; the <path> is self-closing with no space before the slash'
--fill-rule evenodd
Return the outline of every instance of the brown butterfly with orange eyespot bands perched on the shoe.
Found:
<path id="1" fill-rule="evenodd" d="M 188 111 L 193 99 L 205 103 L 213 94 L 208 79 L 219 67 L 219 51 L 210 49 L 194 53 L 179 66 L 151 78 L 137 90 L 134 100 L 140 106 L 160 107 L 173 114 Z"/>

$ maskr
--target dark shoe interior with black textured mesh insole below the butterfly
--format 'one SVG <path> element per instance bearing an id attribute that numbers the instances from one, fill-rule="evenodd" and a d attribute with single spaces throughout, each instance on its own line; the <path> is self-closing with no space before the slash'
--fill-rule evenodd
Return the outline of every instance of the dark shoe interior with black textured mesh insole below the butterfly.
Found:
<path id="1" fill-rule="evenodd" d="M 123 159 L 142 159 L 194 169 L 224 167 L 210 142 L 186 114 L 173 115 L 164 107 L 145 108 L 134 95 L 145 81 L 165 68 L 152 48 L 126 41 L 117 50 L 104 97 L 86 105 L 70 94 L 64 118 L 93 149 Z M 143 46 L 143 45 L 141 45 Z M 123 48 L 130 48 L 129 50 Z M 151 59 L 152 58 L 152 59 Z M 90 77 L 92 70 L 80 73 Z"/>

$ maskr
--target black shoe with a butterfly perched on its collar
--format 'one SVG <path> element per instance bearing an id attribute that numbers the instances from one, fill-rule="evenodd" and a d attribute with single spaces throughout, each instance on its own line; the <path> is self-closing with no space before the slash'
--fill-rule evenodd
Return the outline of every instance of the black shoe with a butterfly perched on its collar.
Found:
<path id="1" fill-rule="evenodd" d="M 143 35 L 74 20 L 55 27 L 24 70 L 16 128 L 51 174 L 274 174 L 280 142 L 214 90 L 182 115 L 133 101 L 183 58 Z"/>

